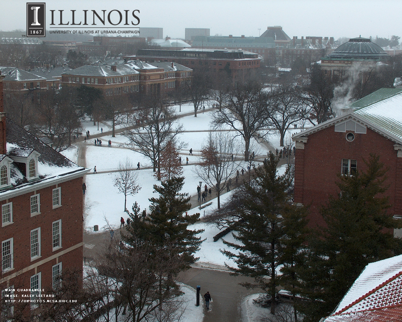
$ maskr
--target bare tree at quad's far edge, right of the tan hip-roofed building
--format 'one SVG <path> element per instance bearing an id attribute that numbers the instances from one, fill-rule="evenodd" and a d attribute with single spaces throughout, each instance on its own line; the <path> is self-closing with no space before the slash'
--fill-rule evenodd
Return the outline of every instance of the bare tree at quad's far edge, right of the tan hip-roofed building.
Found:
<path id="1" fill-rule="evenodd" d="M 209 88 L 209 75 L 203 72 L 197 72 L 191 80 L 184 83 L 184 91 L 194 105 L 194 117 L 197 117 L 197 110 L 202 108 L 201 103 L 208 98 Z"/>

